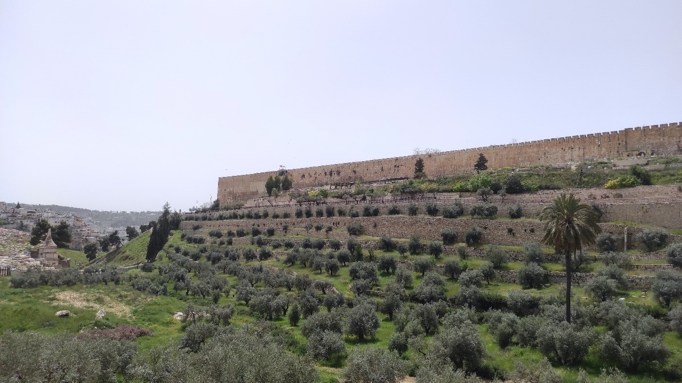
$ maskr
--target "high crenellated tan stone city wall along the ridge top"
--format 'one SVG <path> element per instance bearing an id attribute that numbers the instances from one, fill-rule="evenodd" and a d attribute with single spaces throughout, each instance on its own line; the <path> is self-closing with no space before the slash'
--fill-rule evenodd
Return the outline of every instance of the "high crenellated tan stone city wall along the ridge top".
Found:
<path id="1" fill-rule="evenodd" d="M 618 132 L 551 138 L 515 144 L 445 151 L 432 155 L 409 155 L 363 162 L 349 162 L 289 170 L 295 187 L 318 183 L 376 181 L 412 177 L 417 158 L 424 159 L 429 176 L 471 172 L 478 153 L 488 158 L 490 168 L 582 162 L 590 159 L 627 157 L 635 152 L 646 155 L 682 153 L 682 127 L 679 123 L 628 128 Z M 218 179 L 222 202 L 245 200 L 265 192 L 265 181 L 278 172 L 261 172 Z"/>

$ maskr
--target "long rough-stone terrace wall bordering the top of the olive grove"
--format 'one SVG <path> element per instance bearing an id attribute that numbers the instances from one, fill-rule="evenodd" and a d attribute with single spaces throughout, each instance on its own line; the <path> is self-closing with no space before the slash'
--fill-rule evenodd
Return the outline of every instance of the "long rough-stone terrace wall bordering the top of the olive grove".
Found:
<path id="1" fill-rule="evenodd" d="M 282 225 L 288 224 L 289 230 L 302 228 L 304 224 L 321 223 L 323 226 L 331 225 L 333 228 L 345 228 L 346 225 L 359 222 L 364 226 L 365 234 L 370 236 L 382 236 L 384 234 L 394 238 L 409 238 L 417 234 L 422 239 L 440 240 L 443 228 L 452 228 L 458 232 L 460 241 L 464 239 L 466 230 L 471 226 L 483 229 L 483 243 L 494 243 L 496 245 L 523 246 L 528 242 L 540 242 L 543 235 L 542 222 L 536 221 L 498 221 L 493 219 L 447 219 L 440 217 L 405 217 L 405 216 L 379 216 L 379 217 L 331 217 L 331 218 L 292 218 L 292 219 L 237 219 L 223 221 L 183 221 L 180 228 L 191 230 L 192 226 L 200 224 L 205 229 L 236 230 L 243 228 L 250 232 L 252 226 L 258 225 L 262 231 L 271 226 L 276 228 L 278 235 L 283 234 Z M 625 232 L 623 225 L 599 224 L 604 232 L 622 234 Z M 509 231 L 511 229 L 511 232 Z M 643 229 L 627 228 L 628 248 L 637 244 L 634 236 Z M 300 232 L 298 234 L 301 234 Z M 305 234 L 305 233 L 303 233 Z M 308 233 L 310 236 L 324 236 L 324 232 L 316 234 L 314 230 Z M 668 241 L 682 241 L 682 236 L 668 235 Z"/>

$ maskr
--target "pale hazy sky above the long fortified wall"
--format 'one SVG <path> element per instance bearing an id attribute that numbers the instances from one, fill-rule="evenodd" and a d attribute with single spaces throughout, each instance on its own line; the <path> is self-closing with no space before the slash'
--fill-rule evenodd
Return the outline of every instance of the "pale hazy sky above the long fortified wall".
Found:
<path id="1" fill-rule="evenodd" d="M 0 0 L 0 200 L 682 121 L 682 1 Z"/>

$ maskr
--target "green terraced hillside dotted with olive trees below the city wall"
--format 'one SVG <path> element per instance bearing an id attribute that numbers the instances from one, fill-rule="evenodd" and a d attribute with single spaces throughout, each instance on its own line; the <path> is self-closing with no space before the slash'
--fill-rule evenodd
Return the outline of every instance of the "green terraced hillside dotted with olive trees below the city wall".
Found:
<path id="1" fill-rule="evenodd" d="M 194 381 L 217 371 L 237 380 L 261 361 L 254 352 L 295 375 L 261 378 L 272 382 L 355 382 L 387 371 L 420 383 L 682 378 L 677 230 L 599 224 L 598 245 L 571 265 L 569 324 L 563 255 L 539 245 L 537 218 L 415 206 L 358 204 L 357 217 L 325 205 L 296 207 L 286 218 L 280 209 L 190 216 L 155 262 L 138 269 L 113 266 L 143 262 L 148 234 L 81 273 L 4 278 L 0 329 L 76 334 L 104 326 L 141 335 L 119 381 L 152 382 L 150 371 L 175 368 Z M 370 216 L 360 216 L 364 207 Z M 76 316 L 51 319 L 57 309 Z M 93 319 L 98 309 L 104 320 Z M 235 342 L 252 346 L 231 348 Z"/>

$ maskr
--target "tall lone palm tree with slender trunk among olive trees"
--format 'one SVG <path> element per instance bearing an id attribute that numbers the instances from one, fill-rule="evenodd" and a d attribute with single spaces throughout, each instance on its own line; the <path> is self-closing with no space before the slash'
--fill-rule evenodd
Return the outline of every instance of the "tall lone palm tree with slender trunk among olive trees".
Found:
<path id="1" fill-rule="evenodd" d="M 542 209 L 541 221 L 545 222 L 542 242 L 561 249 L 566 260 L 566 322 L 571 322 L 571 256 L 582 251 L 582 245 L 595 243 L 597 234 L 602 232 L 597 224 L 599 217 L 589 204 L 581 204 L 574 194 L 554 199 Z"/>

